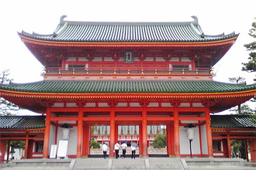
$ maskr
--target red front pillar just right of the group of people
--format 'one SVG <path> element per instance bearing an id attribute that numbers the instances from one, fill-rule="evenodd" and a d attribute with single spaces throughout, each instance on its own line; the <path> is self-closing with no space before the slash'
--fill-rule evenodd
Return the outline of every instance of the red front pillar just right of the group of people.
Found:
<path id="1" fill-rule="evenodd" d="M 147 157 L 147 110 L 142 107 L 142 156 Z"/>

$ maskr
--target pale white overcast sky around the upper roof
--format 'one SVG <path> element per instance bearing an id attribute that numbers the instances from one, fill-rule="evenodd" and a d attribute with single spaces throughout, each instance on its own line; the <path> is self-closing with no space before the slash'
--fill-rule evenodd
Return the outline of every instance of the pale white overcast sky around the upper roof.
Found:
<path id="1" fill-rule="evenodd" d="M 240 33 L 234 46 L 214 66 L 214 80 L 228 83 L 229 77 L 244 76 L 250 84 L 254 83 L 255 73 L 240 70 L 248 57 L 244 44 L 254 41 L 247 33 L 256 17 L 255 8 L 255 0 L 2 0 L 0 70 L 10 70 L 15 83 L 43 80 L 43 66 L 20 41 L 17 32 L 53 33 L 61 15 L 67 15 L 65 20 L 95 22 L 188 22 L 195 15 L 206 35 Z"/>

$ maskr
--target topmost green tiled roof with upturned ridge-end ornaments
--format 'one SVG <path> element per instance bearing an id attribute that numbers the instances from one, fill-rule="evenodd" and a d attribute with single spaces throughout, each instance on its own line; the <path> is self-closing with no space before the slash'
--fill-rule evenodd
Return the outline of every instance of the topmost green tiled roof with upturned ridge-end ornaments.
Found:
<path id="1" fill-rule="evenodd" d="M 20 36 L 57 42 L 209 42 L 238 36 L 207 36 L 194 22 L 71 22 L 64 21 L 50 35 L 20 32 Z"/>

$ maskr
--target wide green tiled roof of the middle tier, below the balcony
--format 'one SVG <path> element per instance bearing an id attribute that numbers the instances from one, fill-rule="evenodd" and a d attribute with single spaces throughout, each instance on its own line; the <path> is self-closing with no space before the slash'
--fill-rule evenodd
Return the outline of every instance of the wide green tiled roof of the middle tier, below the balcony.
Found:
<path id="1" fill-rule="evenodd" d="M 0 84 L 1 89 L 38 93 L 223 93 L 255 90 L 256 84 L 202 80 L 44 80 L 36 83 Z"/>

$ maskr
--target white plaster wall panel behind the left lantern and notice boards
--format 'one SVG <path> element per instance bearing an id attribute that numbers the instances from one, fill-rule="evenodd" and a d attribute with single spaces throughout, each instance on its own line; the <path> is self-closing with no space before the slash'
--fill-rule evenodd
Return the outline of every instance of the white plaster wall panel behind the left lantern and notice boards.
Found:
<path id="1" fill-rule="evenodd" d="M 70 138 L 67 145 L 67 155 L 77 155 L 78 128 L 73 127 L 70 130 Z M 62 128 L 59 127 L 57 129 L 57 147 L 60 140 L 62 140 Z"/>

